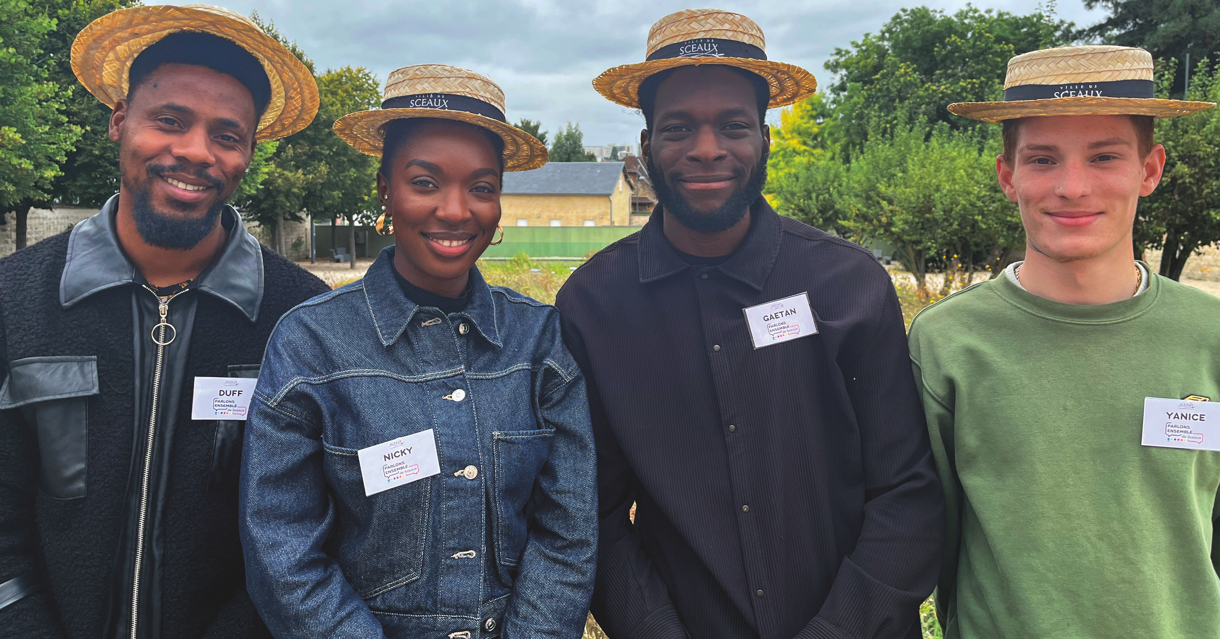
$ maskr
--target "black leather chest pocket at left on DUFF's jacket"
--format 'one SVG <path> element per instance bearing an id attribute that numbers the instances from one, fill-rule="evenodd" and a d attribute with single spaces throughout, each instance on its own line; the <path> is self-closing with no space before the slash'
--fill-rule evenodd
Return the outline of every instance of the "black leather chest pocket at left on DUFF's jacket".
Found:
<path id="1" fill-rule="evenodd" d="M 85 495 L 89 396 L 96 395 L 98 357 L 60 355 L 9 362 L 0 410 L 21 409 L 38 435 L 38 487 L 54 499 Z"/>

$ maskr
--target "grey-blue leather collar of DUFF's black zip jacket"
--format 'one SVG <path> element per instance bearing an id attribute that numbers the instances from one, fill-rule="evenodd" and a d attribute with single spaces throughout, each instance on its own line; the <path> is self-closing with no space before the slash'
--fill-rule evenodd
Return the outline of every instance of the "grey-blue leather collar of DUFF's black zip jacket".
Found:
<path id="1" fill-rule="evenodd" d="M 117 212 L 118 195 L 115 195 L 100 212 L 72 228 L 67 262 L 60 277 L 60 305 L 63 309 L 94 293 L 140 282 L 135 266 L 118 244 L 115 229 Z M 245 229 L 237 210 L 224 206 L 221 215 L 234 221 L 233 228 L 221 254 L 199 274 L 195 285 L 232 304 L 254 322 L 262 304 L 262 250 L 259 240 Z"/>

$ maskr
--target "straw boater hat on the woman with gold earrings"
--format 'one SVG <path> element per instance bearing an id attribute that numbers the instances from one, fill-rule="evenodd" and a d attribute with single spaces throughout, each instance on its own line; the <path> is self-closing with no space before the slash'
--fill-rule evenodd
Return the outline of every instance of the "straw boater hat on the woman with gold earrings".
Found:
<path id="1" fill-rule="evenodd" d="M 504 140 L 504 170 L 528 171 L 547 163 L 547 146 L 509 124 L 504 91 L 484 76 L 448 65 L 416 65 L 386 78 L 381 109 L 359 111 L 334 122 L 334 132 L 355 150 L 381 156 L 386 123 L 411 117 L 468 122 Z"/>

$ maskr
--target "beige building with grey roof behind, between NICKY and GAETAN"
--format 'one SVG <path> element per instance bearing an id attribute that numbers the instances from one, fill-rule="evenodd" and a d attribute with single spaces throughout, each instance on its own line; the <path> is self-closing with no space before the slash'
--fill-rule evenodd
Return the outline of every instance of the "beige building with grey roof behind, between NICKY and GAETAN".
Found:
<path id="1" fill-rule="evenodd" d="M 533 171 L 504 174 L 500 223 L 630 226 L 632 213 L 639 207 L 638 193 L 639 173 L 627 171 L 623 162 L 548 162 Z"/>

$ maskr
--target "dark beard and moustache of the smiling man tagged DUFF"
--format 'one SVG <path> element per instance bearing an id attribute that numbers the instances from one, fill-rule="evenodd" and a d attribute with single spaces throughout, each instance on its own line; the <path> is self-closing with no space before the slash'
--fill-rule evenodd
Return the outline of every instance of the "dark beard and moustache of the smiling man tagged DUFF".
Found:
<path id="1" fill-rule="evenodd" d="M 152 206 L 151 182 L 166 173 L 185 173 L 182 165 L 150 165 L 143 188 L 134 188 L 131 180 L 123 179 L 123 187 L 132 194 L 132 217 L 135 220 L 135 230 L 145 243 L 161 249 L 185 251 L 194 249 L 211 234 L 216 228 L 216 221 L 224 210 L 226 199 L 217 198 L 203 217 L 192 217 L 189 213 L 194 205 L 187 202 L 172 202 L 171 206 L 178 209 L 185 216 L 160 211 Z M 196 171 L 194 177 L 210 183 L 217 191 L 223 183 L 207 174 L 204 170 Z"/>

